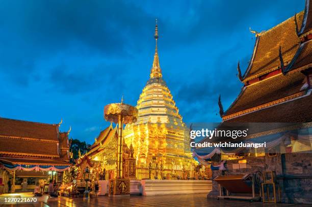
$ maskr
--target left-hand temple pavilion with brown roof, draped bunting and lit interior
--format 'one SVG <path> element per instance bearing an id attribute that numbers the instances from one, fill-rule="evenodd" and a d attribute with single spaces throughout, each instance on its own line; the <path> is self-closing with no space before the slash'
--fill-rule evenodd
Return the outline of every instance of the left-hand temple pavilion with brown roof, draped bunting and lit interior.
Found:
<path id="1" fill-rule="evenodd" d="M 0 194 L 10 178 L 12 192 L 44 187 L 50 179 L 61 183 L 71 164 L 69 131 L 60 132 L 60 125 L 0 118 Z"/>

